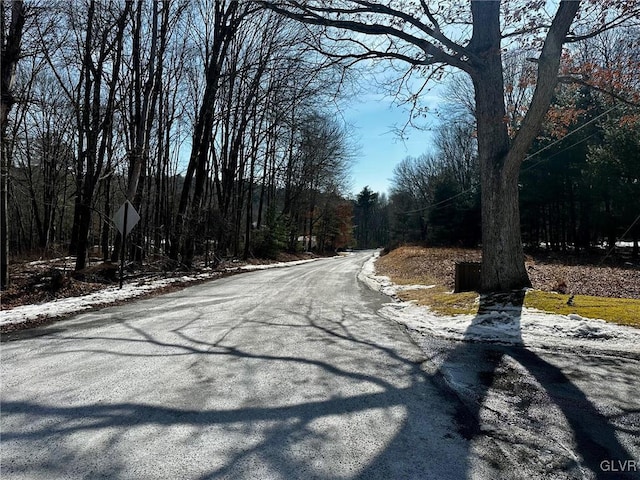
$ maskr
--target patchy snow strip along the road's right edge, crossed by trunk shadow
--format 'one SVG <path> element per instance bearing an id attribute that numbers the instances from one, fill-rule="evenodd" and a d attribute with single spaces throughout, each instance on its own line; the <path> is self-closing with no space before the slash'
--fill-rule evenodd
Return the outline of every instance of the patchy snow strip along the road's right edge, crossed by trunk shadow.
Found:
<path id="1" fill-rule="evenodd" d="M 435 315 L 428 307 L 398 300 L 398 292 L 406 287 L 375 274 L 378 256 L 376 253 L 365 263 L 359 278 L 396 299 L 385 304 L 380 313 L 411 330 L 451 340 L 640 353 L 640 329 L 575 314 L 557 315 L 507 305 L 481 315 Z"/>

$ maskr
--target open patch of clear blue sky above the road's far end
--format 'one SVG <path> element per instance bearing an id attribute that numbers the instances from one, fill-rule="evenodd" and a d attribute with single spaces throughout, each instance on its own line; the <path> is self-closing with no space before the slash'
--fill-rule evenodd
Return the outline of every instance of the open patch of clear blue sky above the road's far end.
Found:
<path id="1" fill-rule="evenodd" d="M 434 96 L 427 103 L 435 101 Z M 407 156 L 417 157 L 431 150 L 429 131 L 408 129 L 407 138 L 399 138 L 394 127 L 400 128 L 407 122 L 408 107 L 394 105 L 383 94 L 354 97 L 344 118 L 359 147 L 352 168 L 354 196 L 367 185 L 374 192 L 389 193 L 394 167 Z M 431 123 L 433 120 L 428 119 Z"/>

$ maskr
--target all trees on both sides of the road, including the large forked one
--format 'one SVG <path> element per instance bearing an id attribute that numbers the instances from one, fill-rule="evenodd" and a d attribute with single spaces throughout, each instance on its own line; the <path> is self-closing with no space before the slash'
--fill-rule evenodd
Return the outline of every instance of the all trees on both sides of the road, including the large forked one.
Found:
<path id="1" fill-rule="evenodd" d="M 128 258 L 166 268 L 482 241 L 505 289 L 528 282 L 521 238 L 637 254 L 639 7 L 441 3 L 2 2 L 3 287 L 12 256 L 118 260 L 125 199 Z M 342 90 L 389 61 L 414 112 L 452 85 L 447 121 L 388 197 L 349 198 Z"/>

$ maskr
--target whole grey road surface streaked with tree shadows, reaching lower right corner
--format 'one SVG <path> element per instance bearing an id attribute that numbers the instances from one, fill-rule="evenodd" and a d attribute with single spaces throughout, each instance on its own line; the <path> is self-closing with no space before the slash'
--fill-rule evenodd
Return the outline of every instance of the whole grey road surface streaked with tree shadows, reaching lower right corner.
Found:
<path id="1" fill-rule="evenodd" d="M 638 478 L 638 358 L 412 340 L 370 255 L 5 337 L 0 477 Z"/>

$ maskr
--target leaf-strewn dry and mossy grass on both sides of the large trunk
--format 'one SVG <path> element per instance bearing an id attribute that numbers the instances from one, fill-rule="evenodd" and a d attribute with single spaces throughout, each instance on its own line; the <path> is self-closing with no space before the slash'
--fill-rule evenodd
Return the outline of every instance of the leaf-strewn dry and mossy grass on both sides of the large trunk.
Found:
<path id="1" fill-rule="evenodd" d="M 427 290 L 401 292 L 399 297 L 429 306 L 443 315 L 476 314 L 479 296 L 475 292 L 452 293 L 455 263 L 480 261 L 478 250 L 407 246 L 382 256 L 376 263 L 380 275 L 400 285 L 435 285 Z M 598 267 L 562 264 L 559 258 L 527 259 L 534 290 L 527 293 L 525 306 L 551 313 L 575 313 L 588 318 L 640 327 L 640 271 L 636 267 Z M 560 294 L 553 290 L 564 290 Z M 593 294 L 589 295 L 590 290 Z M 573 294 L 573 305 L 568 305 Z M 617 297 L 631 298 L 617 298 Z"/>

